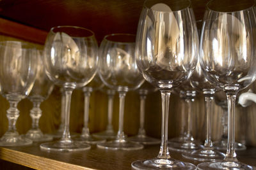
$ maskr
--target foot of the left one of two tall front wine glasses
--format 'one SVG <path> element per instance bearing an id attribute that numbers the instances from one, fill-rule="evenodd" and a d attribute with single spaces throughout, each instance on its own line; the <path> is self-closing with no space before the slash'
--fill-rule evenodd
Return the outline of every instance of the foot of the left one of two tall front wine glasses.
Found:
<path id="1" fill-rule="evenodd" d="M 132 162 L 133 169 L 196 169 L 196 166 L 190 163 L 181 162 L 175 159 L 148 159 L 136 160 Z"/>

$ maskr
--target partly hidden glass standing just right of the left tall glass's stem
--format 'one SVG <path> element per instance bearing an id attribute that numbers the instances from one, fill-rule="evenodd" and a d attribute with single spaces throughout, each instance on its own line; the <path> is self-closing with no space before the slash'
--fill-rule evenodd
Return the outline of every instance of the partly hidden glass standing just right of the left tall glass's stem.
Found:
<path id="1" fill-rule="evenodd" d="M 192 104 L 195 101 L 196 90 L 191 87 L 189 81 L 184 82 L 180 87 L 180 98 L 185 101 L 188 108 L 187 115 L 187 129 L 184 134 L 184 138 L 178 138 L 178 141 L 173 139 L 168 143 L 168 148 L 170 150 L 174 150 L 176 152 L 191 152 L 193 150 L 198 150 L 201 148 L 201 145 L 198 141 L 196 141 L 192 134 Z"/>

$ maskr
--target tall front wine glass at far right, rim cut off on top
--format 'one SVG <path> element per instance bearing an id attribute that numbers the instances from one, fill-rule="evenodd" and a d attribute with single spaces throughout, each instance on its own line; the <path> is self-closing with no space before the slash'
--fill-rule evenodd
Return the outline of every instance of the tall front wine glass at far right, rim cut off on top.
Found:
<path id="1" fill-rule="evenodd" d="M 228 1 L 229 2 L 229 1 Z M 234 148 L 236 95 L 256 74 L 256 20 L 253 2 L 212 0 L 207 3 L 200 41 L 200 65 L 207 79 L 221 87 L 228 101 L 228 145 L 225 159 L 198 164 L 199 169 L 253 169 L 239 162 Z"/>

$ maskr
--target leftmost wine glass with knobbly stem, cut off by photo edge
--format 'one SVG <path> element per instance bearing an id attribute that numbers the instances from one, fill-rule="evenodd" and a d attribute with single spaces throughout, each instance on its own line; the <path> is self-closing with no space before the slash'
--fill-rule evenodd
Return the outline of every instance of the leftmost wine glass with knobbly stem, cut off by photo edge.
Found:
<path id="1" fill-rule="evenodd" d="M 8 131 L 0 139 L 0 146 L 30 145 L 32 141 L 22 138 L 16 130 L 19 117 L 17 104 L 29 95 L 37 71 L 36 49 L 20 41 L 0 42 L 0 87 L 1 94 L 10 103 L 7 110 Z"/>

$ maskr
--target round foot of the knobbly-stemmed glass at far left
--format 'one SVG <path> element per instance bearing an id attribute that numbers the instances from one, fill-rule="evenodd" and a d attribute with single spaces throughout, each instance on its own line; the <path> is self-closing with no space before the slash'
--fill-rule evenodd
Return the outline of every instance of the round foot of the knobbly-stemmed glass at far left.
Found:
<path id="1" fill-rule="evenodd" d="M 23 138 L 22 136 L 10 136 L 4 134 L 0 139 L 0 146 L 26 146 L 31 145 L 33 141 L 31 139 Z"/>

